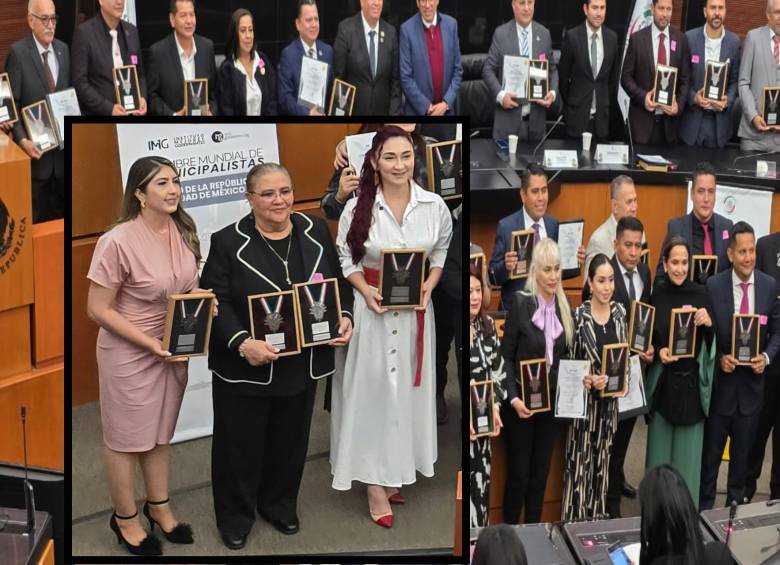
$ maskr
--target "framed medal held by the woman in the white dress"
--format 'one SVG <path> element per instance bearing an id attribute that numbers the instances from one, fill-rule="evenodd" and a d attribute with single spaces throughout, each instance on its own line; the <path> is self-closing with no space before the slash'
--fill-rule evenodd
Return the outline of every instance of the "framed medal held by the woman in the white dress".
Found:
<path id="1" fill-rule="evenodd" d="M 379 267 L 382 306 L 393 309 L 422 306 L 424 249 L 383 249 Z"/>

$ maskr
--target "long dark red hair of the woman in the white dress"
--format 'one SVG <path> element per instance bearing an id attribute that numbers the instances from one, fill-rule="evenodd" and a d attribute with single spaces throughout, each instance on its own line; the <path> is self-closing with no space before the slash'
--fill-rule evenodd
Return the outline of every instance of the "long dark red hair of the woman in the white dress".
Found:
<path id="1" fill-rule="evenodd" d="M 357 265 L 366 254 L 366 239 L 368 239 L 368 230 L 371 227 L 373 218 L 374 200 L 376 199 L 376 189 L 381 183 L 379 174 L 374 169 L 371 159 L 379 161 L 379 155 L 382 153 L 382 147 L 385 142 L 393 137 L 403 137 L 414 147 L 411 135 L 397 126 L 381 127 L 374 136 L 374 142 L 371 149 L 366 153 L 366 159 L 363 162 L 363 169 L 360 171 L 360 183 L 358 184 L 358 201 L 355 205 L 352 224 L 347 233 L 347 243 L 352 252 L 352 263 Z"/>

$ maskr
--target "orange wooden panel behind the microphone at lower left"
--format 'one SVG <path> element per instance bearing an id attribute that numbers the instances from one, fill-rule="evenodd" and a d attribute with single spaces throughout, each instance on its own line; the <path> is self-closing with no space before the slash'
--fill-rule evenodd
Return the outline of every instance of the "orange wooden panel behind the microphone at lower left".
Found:
<path id="1" fill-rule="evenodd" d="M 27 407 L 30 465 L 64 471 L 64 365 L 58 363 L 0 381 L 0 461 L 24 463 L 19 407 Z"/>

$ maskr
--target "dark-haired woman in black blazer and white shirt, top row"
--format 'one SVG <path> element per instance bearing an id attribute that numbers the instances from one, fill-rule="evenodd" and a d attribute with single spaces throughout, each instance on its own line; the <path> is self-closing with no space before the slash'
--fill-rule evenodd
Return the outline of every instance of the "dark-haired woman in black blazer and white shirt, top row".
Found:
<path id="1" fill-rule="evenodd" d="M 268 56 L 255 49 L 249 10 L 239 8 L 230 17 L 225 60 L 217 74 L 220 115 L 276 115 L 276 72 Z"/>

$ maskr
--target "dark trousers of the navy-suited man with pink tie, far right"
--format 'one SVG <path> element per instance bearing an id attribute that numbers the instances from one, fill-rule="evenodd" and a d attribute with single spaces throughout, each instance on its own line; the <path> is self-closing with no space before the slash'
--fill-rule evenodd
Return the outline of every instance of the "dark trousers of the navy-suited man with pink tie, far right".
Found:
<path id="1" fill-rule="evenodd" d="M 713 400 L 713 405 L 714 405 Z M 701 461 L 701 486 L 699 492 L 699 510 L 710 510 L 715 504 L 718 481 L 718 469 L 726 447 L 726 437 L 731 438 L 729 447 L 729 474 L 726 491 L 726 506 L 732 500 L 742 501 L 747 476 L 747 458 L 753 445 L 753 436 L 758 424 L 760 411 L 744 416 L 739 408 L 734 414 L 724 416 L 710 414 L 704 424 L 704 449 Z"/>

